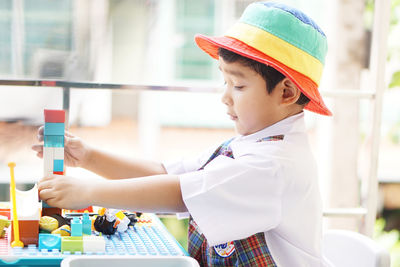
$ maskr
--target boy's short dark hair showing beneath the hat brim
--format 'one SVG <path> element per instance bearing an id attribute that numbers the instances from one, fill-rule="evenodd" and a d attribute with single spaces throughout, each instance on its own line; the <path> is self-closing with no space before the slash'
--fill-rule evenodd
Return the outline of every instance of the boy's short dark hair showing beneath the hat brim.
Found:
<path id="1" fill-rule="evenodd" d="M 268 94 L 272 93 L 275 86 L 286 77 L 271 66 L 255 61 L 251 58 L 241 56 L 228 49 L 219 47 L 218 54 L 220 57 L 222 57 L 224 61 L 228 63 L 239 62 L 260 74 L 261 77 L 263 77 L 263 79 L 265 80 Z M 301 93 L 296 104 L 305 106 L 308 102 L 310 102 L 310 99 L 308 99 L 308 97 Z"/>

